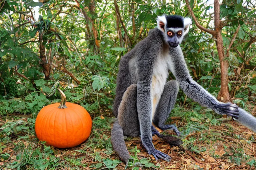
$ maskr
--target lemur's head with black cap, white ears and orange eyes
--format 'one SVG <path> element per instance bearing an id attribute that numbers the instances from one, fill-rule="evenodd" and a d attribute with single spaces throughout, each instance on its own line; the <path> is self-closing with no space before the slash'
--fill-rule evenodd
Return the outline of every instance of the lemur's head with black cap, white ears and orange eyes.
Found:
<path id="1" fill-rule="evenodd" d="M 190 18 L 179 15 L 163 15 L 157 17 L 157 28 L 163 32 L 165 41 L 170 47 L 177 47 L 189 31 Z"/>

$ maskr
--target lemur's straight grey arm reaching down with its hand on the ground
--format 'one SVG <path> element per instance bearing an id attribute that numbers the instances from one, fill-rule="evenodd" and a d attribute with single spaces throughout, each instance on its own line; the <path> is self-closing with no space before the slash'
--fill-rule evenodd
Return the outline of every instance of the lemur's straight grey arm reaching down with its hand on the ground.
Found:
<path id="1" fill-rule="evenodd" d="M 151 82 L 153 75 L 153 66 L 156 57 L 160 53 L 161 44 L 144 49 L 137 54 L 137 111 L 140 124 L 141 141 L 149 154 L 155 159 L 158 158 L 169 161 L 171 159 L 165 153 L 156 150 L 152 143 L 152 101 L 151 101 Z"/>

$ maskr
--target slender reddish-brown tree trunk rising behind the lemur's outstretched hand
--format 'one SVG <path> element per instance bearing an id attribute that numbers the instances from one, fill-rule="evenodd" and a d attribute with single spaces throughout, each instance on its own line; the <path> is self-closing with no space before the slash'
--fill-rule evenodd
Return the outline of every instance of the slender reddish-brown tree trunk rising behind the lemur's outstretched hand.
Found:
<path id="1" fill-rule="evenodd" d="M 222 102 L 228 102 L 230 100 L 230 94 L 228 89 L 228 60 L 224 55 L 223 39 L 221 35 L 221 20 L 220 20 L 220 4 L 219 0 L 214 0 L 214 28 L 215 37 L 217 39 L 216 46 L 218 50 L 221 70 L 221 87 L 217 99 Z"/>

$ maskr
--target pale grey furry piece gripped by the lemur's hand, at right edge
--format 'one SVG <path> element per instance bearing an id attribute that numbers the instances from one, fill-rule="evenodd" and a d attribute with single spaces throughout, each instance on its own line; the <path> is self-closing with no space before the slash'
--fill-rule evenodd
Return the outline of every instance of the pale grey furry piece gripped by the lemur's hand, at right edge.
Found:
<path id="1" fill-rule="evenodd" d="M 256 132 L 256 118 L 241 108 L 238 108 L 238 111 L 239 116 L 235 120 Z"/>

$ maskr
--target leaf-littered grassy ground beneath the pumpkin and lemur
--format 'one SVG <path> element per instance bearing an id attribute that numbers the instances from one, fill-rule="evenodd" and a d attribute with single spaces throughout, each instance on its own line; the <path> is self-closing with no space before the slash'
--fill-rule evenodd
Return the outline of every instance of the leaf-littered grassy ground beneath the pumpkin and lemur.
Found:
<path id="1" fill-rule="evenodd" d="M 92 133 L 87 141 L 68 149 L 57 149 L 37 139 L 34 130 L 36 114 L 2 116 L 0 168 L 124 169 L 125 164 L 113 151 L 110 140 L 114 118 L 106 115 L 104 119 L 93 118 Z M 127 137 L 129 152 L 142 164 L 142 167 L 133 167 L 130 162 L 129 169 L 255 169 L 256 136 L 251 130 L 198 105 L 193 109 L 176 105 L 171 116 L 168 122 L 176 124 L 182 131 L 182 147 L 171 147 L 156 136 L 153 136 L 153 143 L 172 160 L 156 161 L 146 152 L 139 137 Z M 173 131 L 164 133 L 174 134 Z"/>

